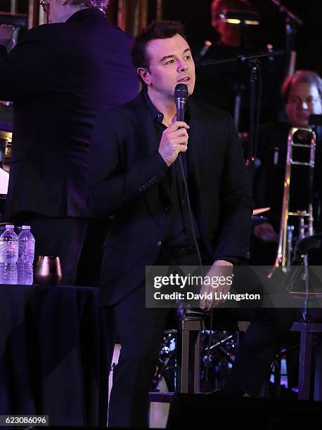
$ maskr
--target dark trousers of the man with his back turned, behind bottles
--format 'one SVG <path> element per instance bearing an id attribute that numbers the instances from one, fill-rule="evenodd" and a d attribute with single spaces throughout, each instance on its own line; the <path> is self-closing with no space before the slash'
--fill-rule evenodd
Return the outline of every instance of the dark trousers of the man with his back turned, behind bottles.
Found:
<path id="1" fill-rule="evenodd" d="M 26 224 L 35 237 L 34 257 L 59 256 L 63 279 L 61 284 L 75 285 L 77 263 L 86 237 L 88 219 L 53 218 L 25 212 L 15 216 L 15 223 Z"/>

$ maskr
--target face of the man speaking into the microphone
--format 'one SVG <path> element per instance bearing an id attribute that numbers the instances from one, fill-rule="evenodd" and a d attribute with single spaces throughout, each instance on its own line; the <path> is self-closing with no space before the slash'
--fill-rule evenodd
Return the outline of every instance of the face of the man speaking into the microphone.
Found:
<path id="1" fill-rule="evenodd" d="M 141 77 L 149 91 L 159 93 L 164 98 L 173 98 L 176 84 L 186 84 L 191 95 L 195 88 L 195 63 L 191 49 L 179 34 L 169 39 L 155 39 L 146 46 L 150 67 L 141 69 Z M 140 69 L 139 69 L 140 70 Z"/>

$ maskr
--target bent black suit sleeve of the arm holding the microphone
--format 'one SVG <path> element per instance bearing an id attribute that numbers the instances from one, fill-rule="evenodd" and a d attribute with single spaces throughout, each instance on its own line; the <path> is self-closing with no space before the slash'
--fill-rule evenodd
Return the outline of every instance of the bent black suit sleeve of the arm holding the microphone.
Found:
<path id="1" fill-rule="evenodd" d="M 117 119 L 113 121 L 108 114 L 96 119 L 87 187 L 87 207 L 91 214 L 102 217 L 124 209 L 167 174 L 167 164 L 157 151 L 125 167 L 122 138 L 113 127 Z"/>

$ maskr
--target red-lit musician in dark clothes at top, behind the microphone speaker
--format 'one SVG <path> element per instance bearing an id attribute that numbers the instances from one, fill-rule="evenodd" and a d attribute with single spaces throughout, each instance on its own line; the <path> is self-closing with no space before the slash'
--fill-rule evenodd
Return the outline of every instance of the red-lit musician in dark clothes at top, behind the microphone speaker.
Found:
<path id="1" fill-rule="evenodd" d="M 271 37 L 261 33 L 259 25 L 238 25 L 226 22 L 227 12 L 255 13 L 248 0 L 213 0 L 210 8 L 210 26 L 202 32 L 202 39 L 191 40 L 195 63 L 209 60 L 227 60 L 240 55 L 266 52 Z M 258 18 L 258 15 L 257 15 Z M 262 79 L 269 82 L 262 91 L 262 117 L 271 119 L 272 110 L 278 100 L 281 84 L 282 58 L 263 60 Z M 247 131 L 250 107 L 250 73 L 247 61 L 229 61 L 216 65 L 200 66 L 196 70 L 195 96 L 234 117 L 238 131 Z M 265 89 L 269 91 L 265 91 Z M 240 100 L 241 101 L 238 101 Z M 240 112 L 237 106 L 240 103 Z M 240 124 L 240 126 L 238 126 Z"/>

